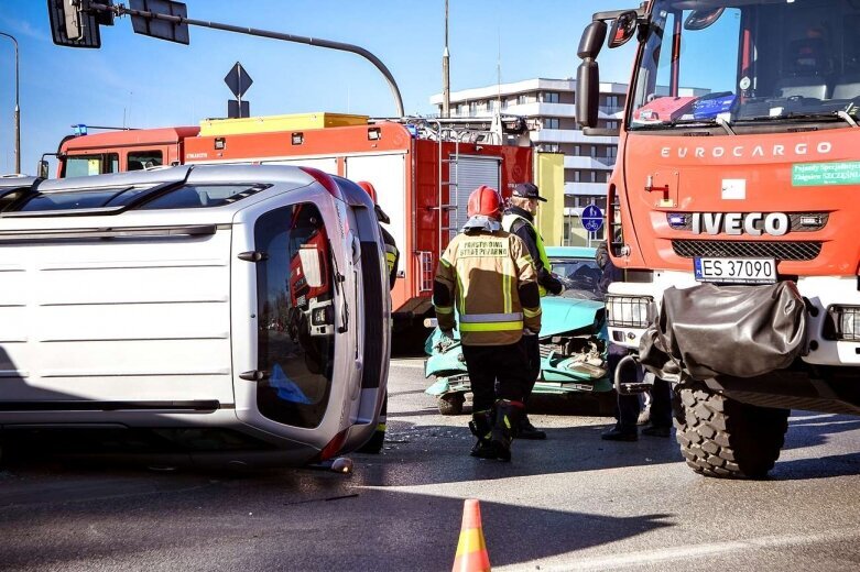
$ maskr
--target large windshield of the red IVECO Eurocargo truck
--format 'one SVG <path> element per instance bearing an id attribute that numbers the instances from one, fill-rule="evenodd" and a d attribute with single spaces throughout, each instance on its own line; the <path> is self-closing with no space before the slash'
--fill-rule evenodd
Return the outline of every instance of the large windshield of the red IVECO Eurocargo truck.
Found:
<path id="1" fill-rule="evenodd" d="M 858 26 L 852 0 L 657 0 L 628 128 L 850 121 Z"/>

